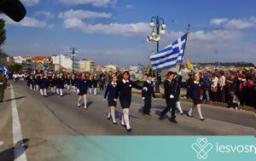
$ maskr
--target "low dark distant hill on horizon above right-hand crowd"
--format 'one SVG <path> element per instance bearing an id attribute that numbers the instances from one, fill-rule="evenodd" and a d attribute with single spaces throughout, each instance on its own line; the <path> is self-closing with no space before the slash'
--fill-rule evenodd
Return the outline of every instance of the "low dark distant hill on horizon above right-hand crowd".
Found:
<path id="1" fill-rule="evenodd" d="M 207 63 L 197 63 L 197 64 L 201 66 L 212 65 L 212 66 L 254 67 L 253 63 L 248 63 L 248 62 L 207 62 Z"/>

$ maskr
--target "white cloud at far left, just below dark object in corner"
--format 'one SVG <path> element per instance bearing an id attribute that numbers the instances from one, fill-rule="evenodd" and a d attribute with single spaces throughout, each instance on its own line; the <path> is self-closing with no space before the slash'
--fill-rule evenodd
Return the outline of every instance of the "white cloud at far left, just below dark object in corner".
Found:
<path id="1" fill-rule="evenodd" d="M 2 15 L 0 17 L 3 18 L 3 20 L 6 21 L 6 24 L 9 24 L 9 25 L 31 26 L 31 27 L 39 27 L 39 28 L 44 28 L 44 27 L 52 28 L 52 27 L 54 27 L 53 24 L 47 24 L 45 21 L 36 20 L 32 17 L 25 17 L 20 22 L 15 22 L 14 20 L 9 19 L 9 17 L 7 17 L 6 15 Z"/>

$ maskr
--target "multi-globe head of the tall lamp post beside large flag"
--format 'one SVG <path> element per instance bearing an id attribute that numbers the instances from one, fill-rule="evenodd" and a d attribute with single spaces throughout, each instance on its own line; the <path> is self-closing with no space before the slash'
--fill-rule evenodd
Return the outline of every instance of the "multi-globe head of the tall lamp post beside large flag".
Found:
<path id="1" fill-rule="evenodd" d="M 149 26 L 152 28 L 151 35 L 147 37 L 148 42 L 156 42 L 156 51 L 159 52 L 159 41 L 161 38 L 161 35 L 164 35 L 166 33 L 166 24 L 165 20 L 163 18 L 160 18 L 158 15 L 153 16 L 151 18 L 151 22 L 149 23 Z"/>

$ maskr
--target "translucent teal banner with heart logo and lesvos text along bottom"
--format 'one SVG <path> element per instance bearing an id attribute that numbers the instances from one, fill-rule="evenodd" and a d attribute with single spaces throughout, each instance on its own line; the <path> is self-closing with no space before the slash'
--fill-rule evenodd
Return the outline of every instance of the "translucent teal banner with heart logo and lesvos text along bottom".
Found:
<path id="1" fill-rule="evenodd" d="M 62 161 L 255 161 L 253 136 L 67 136 L 50 138 Z M 55 152 L 55 153 L 53 153 Z"/>

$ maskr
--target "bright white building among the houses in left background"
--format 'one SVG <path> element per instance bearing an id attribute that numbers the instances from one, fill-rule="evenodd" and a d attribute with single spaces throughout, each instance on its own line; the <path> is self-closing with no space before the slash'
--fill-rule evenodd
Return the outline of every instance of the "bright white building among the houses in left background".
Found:
<path id="1" fill-rule="evenodd" d="M 68 71 L 73 70 L 73 60 L 68 55 L 52 55 L 51 59 L 55 66 L 55 71 L 59 71 L 61 67 L 66 68 Z"/>

